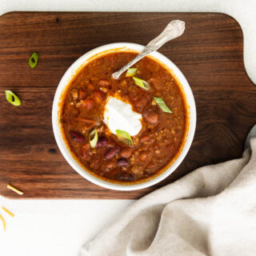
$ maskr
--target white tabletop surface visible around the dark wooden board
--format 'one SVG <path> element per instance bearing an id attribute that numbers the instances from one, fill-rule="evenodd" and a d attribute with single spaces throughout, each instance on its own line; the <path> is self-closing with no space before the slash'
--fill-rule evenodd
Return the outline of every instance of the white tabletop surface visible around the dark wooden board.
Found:
<path id="1" fill-rule="evenodd" d="M 245 63 L 256 82 L 255 0 L 1 0 L 0 14 L 11 10 L 211 11 L 230 14 L 242 26 Z M 0 35 L 1 36 L 1 35 Z M 7 200 L 0 206 L 15 214 L 0 222 L 0 255 L 73 256 L 132 200 Z M 103 256 L 103 255 L 102 255 Z"/>

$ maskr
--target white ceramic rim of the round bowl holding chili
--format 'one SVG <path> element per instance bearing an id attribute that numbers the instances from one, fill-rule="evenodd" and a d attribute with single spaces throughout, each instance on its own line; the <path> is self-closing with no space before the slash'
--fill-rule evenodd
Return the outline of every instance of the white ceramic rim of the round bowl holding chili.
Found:
<path id="1" fill-rule="evenodd" d="M 170 61 L 170 59 L 166 58 L 164 55 L 158 53 L 157 51 L 150 54 L 153 58 L 157 58 L 158 61 L 162 62 L 170 70 L 172 70 L 176 78 L 178 78 L 178 81 L 180 82 L 184 90 L 184 94 L 186 95 L 186 103 L 189 109 L 188 111 L 189 125 L 188 125 L 188 131 L 186 136 L 186 142 L 183 144 L 184 146 L 183 146 L 182 152 L 178 155 L 178 158 L 172 163 L 172 165 L 168 169 L 162 172 L 162 174 L 159 174 L 158 176 L 155 176 L 154 178 L 142 183 L 122 185 L 122 184 L 107 182 L 100 178 L 95 177 L 94 175 L 90 174 L 90 172 L 84 170 L 82 166 L 80 166 L 78 162 L 74 160 L 74 158 L 70 154 L 70 151 L 67 149 L 66 144 L 62 138 L 61 127 L 60 127 L 60 123 L 58 122 L 58 118 L 59 118 L 58 113 L 59 113 L 59 106 L 60 106 L 59 102 L 60 102 L 62 93 L 66 90 L 66 86 L 69 85 L 69 82 L 74 77 L 74 74 L 76 74 L 79 68 L 86 65 L 86 63 L 89 62 L 88 61 L 89 59 L 91 61 L 91 59 L 93 59 L 98 55 L 101 55 L 101 53 L 105 51 L 111 51 L 111 50 L 141 51 L 143 47 L 144 46 L 141 46 L 135 43 L 117 42 L 117 43 L 111 43 L 105 46 L 100 46 L 94 50 L 90 50 L 90 52 L 82 55 L 82 57 L 78 58 L 78 60 L 76 60 L 70 66 L 70 68 L 66 70 L 66 73 L 62 77 L 62 80 L 58 84 L 58 88 L 54 96 L 54 103 L 53 103 L 53 109 L 52 109 L 52 123 L 53 123 L 53 129 L 54 129 L 54 136 L 58 144 L 58 148 L 62 152 L 62 155 L 64 156 L 64 158 L 66 158 L 66 161 L 70 164 L 70 166 L 72 166 L 74 170 L 78 172 L 78 174 L 81 174 L 83 178 L 86 178 L 87 180 L 97 184 L 98 186 L 103 186 L 112 190 L 139 190 L 148 186 L 152 186 L 158 182 L 161 182 L 164 178 L 166 178 L 172 172 L 174 172 L 174 170 L 177 169 L 179 164 L 185 158 L 188 150 L 190 149 L 191 143 L 193 141 L 194 130 L 196 126 L 196 108 L 194 103 L 194 96 L 190 89 L 189 83 L 186 81 L 186 78 L 184 77 L 182 72 L 178 69 L 178 67 L 175 66 L 174 63 Z"/>

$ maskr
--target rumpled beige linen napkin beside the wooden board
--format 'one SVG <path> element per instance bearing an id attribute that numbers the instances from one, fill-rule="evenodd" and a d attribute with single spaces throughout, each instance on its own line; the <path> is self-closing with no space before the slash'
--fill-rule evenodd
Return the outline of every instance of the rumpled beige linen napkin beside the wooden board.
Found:
<path id="1" fill-rule="evenodd" d="M 141 198 L 80 255 L 255 256 L 256 138 L 250 146 Z"/>

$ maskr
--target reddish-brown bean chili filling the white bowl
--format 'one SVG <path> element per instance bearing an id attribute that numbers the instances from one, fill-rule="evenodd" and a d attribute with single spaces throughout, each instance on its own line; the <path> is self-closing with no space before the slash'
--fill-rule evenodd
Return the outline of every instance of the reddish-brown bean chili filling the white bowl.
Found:
<path id="1" fill-rule="evenodd" d="M 118 80 L 111 78 L 135 56 L 116 52 L 92 59 L 74 76 L 62 98 L 62 134 L 70 152 L 86 170 L 110 182 L 139 182 L 161 173 L 178 157 L 186 138 L 186 98 L 166 66 L 150 57 L 133 66 L 134 77 L 146 81 L 149 90 L 126 73 Z M 142 129 L 130 137 L 132 145 L 111 133 L 104 122 L 110 97 L 142 114 Z M 154 97 L 161 98 L 172 113 L 164 112 Z M 92 131 L 98 134 L 96 146 L 90 144 Z"/>

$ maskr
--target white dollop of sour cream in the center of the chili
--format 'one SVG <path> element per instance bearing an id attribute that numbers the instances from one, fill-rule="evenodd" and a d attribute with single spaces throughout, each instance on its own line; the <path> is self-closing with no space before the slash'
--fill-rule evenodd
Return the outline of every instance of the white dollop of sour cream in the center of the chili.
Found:
<path id="1" fill-rule="evenodd" d="M 116 130 L 124 130 L 134 136 L 142 129 L 142 115 L 134 112 L 130 103 L 109 97 L 104 110 L 104 122 L 112 134 Z"/>

